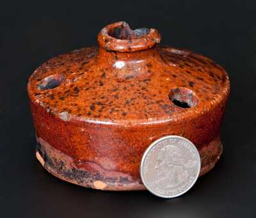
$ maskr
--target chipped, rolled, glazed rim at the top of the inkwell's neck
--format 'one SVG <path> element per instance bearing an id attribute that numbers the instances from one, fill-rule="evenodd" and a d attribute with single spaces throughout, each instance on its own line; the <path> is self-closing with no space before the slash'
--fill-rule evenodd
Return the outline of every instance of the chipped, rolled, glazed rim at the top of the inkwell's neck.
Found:
<path id="1" fill-rule="evenodd" d="M 150 29 L 149 33 L 145 36 L 132 40 L 120 40 L 118 38 L 109 36 L 109 30 L 119 26 L 129 27 L 126 22 L 120 21 L 114 24 L 109 24 L 100 31 L 98 34 L 98 42 L 100 47 L 116 52 L 135 52 L 152 48 L 161 41 L 161 35 L 156 29 Z"/>

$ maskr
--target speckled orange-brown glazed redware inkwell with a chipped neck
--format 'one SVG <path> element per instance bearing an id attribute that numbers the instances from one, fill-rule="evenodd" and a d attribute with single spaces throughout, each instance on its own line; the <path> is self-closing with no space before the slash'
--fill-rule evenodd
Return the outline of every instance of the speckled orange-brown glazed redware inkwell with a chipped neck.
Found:
<path id="1" fill-rule="evenodd" d="M 104 27 L 99 47 L 59 55 L 36 69 L 28 94 L 36 157 L 58 178 L 102 190 L 145 189 L 140 161 L 170 134 L 195 143 L 200 175 L 221 156 L 228 75 L 188 50 L 158 45 L 156 29 Z"/>

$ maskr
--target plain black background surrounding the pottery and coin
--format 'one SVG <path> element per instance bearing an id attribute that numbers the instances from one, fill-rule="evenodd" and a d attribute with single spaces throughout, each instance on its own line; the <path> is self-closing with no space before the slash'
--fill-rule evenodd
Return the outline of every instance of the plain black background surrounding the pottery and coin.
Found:
<path id="1" fill-rule="evenodd" d="M 256 217 L 255 1 L 1 1 L 0 217 Z M 154 27 L 162 43 L 211 57 L 230 75 L 224 154 L 183 196 L 102 192 L 63 182 L 35 158 L 29 75 L 97 43 L 105 25 Z"/>

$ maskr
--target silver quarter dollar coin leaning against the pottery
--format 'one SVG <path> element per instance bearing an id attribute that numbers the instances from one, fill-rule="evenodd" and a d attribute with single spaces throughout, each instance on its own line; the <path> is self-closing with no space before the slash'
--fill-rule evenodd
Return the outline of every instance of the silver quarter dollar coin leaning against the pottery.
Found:
<path id="1" fill-rule="evenodd" d="M 140 175 L 152 194 L 175 198 L 195 184 L 200 168 L 200 155 L 192 142 L 181 136 L 166 136 L 145 151 Z"/>

